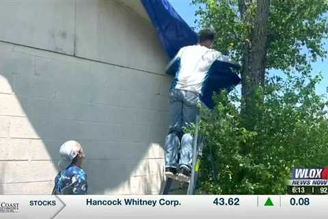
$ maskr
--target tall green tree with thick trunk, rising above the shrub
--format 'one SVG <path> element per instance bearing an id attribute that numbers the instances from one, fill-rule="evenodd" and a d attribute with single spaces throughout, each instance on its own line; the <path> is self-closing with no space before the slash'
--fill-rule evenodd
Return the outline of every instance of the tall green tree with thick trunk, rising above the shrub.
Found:
<path id="1" fill-rule="evenodd" d="M 241 61 L 245 112 L 269 69 L 309 72 L 326 57 L 327 0 L 193 0 L 202 3 L 200 25 L 215 29 L 215 49 Z M 310 54 L 303 53 L 307 48 Z"/>

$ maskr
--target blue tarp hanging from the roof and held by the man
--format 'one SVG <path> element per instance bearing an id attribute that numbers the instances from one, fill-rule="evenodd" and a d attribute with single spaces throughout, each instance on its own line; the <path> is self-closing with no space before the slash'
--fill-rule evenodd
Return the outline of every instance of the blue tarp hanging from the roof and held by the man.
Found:
<path id="1" fill-rule="evenodd" d="M 195 31 L 167 0 L 141 0 L 141 2 L 170 58 L 174 57 L 180 48 L 197 44 L 198 37 Z M 206 86 L 202 95 L 202 101 L 208 107 L 214 106 L 213 92 L 219 92 L 223 88 L 231 90 L 241 81 L 235 70 L 238 70 L 238 66 L 219 61 L 215 61 L 210 67 L 210 75 L 204 82 Z"/>

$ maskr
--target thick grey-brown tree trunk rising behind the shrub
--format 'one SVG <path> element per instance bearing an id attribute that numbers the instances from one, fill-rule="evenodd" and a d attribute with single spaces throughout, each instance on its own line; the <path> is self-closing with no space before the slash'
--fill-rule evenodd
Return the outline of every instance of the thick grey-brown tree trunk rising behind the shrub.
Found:
<path id="1" fill-rule="evenodd" d="M 241 18 L 247 23 L 251 0 L 239 0 Z M 251 21 L 253 28 L 249 40 L 244 44 L 243 69 L 241 72 L 241 94 L 244 99 L 243 113 L 251 112 L 256 88 L 264 86 L 264 75 L 267 57 L 267 23 L 270 0 L 256 1 L 256 16 Z M 249 22 L 249 21 L 248 21 Z"/>

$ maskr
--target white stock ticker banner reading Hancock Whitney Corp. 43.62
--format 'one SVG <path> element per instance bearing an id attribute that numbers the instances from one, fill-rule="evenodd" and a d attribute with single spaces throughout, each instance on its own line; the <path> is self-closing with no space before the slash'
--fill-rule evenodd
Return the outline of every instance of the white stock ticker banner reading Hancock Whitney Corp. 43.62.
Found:
<path id="1" fill-rule="evenodd" d="M 326 195 L 0 196 L 0 218 L 328 217 Z"/>

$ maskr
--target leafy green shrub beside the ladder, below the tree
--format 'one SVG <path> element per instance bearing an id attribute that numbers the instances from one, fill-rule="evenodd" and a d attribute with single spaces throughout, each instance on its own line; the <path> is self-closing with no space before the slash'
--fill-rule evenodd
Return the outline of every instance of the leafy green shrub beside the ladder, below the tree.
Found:
<path id="1" fill-rule="evenodd" d="M 215 96 L 215 109 L 201 111 L 206 147 L 198 193 L 286 194 L 292 167 L 328 166 L 327 102 L 315 92 L 320 79 L 272 77 L 249 116 L 236 92 Z"/>

